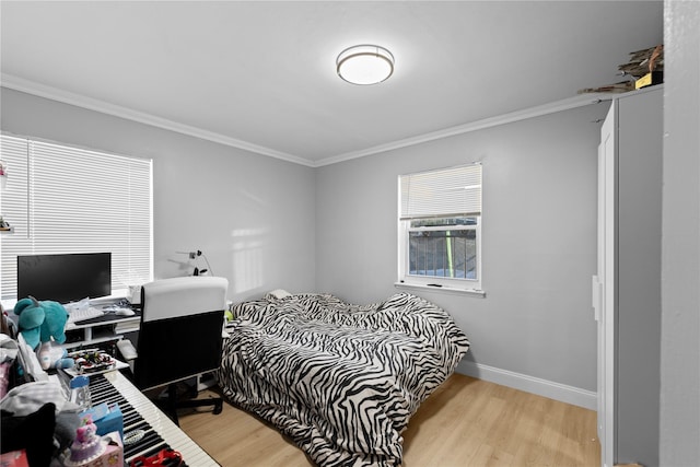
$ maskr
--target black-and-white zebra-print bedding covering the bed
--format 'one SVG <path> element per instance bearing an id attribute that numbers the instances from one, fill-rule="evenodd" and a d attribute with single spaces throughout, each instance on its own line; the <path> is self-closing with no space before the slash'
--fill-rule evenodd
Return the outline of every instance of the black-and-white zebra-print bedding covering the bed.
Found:
<path id="1" fill-rule="evenodd" d="M 234 315 L 223 394 L 318 466 L 399 466 L 409 418 L 469 349 L 445 311 L 408 293 L 370 305 L 268 294 Z"/>

